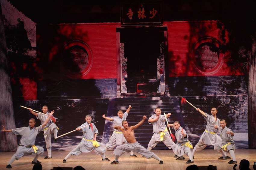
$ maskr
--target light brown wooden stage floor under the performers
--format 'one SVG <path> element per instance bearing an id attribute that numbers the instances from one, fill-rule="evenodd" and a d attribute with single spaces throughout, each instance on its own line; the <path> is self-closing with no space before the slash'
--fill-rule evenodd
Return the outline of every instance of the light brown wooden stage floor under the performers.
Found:
<path id="1" fill-rule="evenodd" d="M 83 166 L 86 170 L 129 170 L 129 169 L 147 169 L 147 170 L 185 170 L 187 166 L 192 164 L 186 164 L 188 157 L 185 156 L 185 160 L 175 160 L 173 157 L 173 151 L 170 150 L 153 150 L 153 152 L 158 155 L 163 161 L 163 165 L 159 165 L 157 160 L 142 158 L 142 155 L 135 154 L 137 158 L 130 158 L 129 154 L 123 154 L 119 158 L 119 164 L 111 165 L 110 163 L 114 160 L 113 151 L 107 151 L 106 157 L 111 160 L 111 162 L 102 162 L 101 156 L 95 154 L 94 152 L 82 153 L 79 156 L 72 156 L 67 160 L 67 163 L 62 163 L 64 157 L 69 153 L 69 151 L 54 151 L 52 152 L 52 159 L 45 160 L 47 152 L 44 152 L 43 155 L 39 156 L 38 160 L 42 162 L 43 170 L 50 170 L 53 167 L 75 167 L 77 165 Z M 0 152 L 0 170 L 6 169 L 6 164 L 10 160 L 11 156 L 15 152 Z M 256 150 L 249 149 L 236 149 L 235 151 L 236 159 L 239 164 L 240 160 L 247 159 L 250 162 L 250 169 L 254 162 L 256 162 Z M 229 155 L 229 154 L 228 154 Z M 230 155 L 229 155 L 230 156 Z M 32 170 L 34 155 L 25 156 L 20 158 L 20 160 L 15 160 L 12 163 L 13 170 Z M 234 164 L 228 164 L 229 160 L 218 160 L 221 157 L 221 154 L 217 151 L 211 149 L 205 149 L 203 151 L 197 152 L 195 154 L 194 164 L 197 166 L 208 166 L 214 165 L 217 166 L 218 170 L 231 170 L 233 169 Z M 236 168 L 239 170 L 239 167 Z"/>

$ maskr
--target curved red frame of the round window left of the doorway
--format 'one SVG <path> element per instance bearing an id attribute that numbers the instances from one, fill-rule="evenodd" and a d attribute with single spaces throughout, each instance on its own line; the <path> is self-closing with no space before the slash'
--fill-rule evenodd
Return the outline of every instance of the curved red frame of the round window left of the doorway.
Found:
<path id="1" fill-rule="evenodd" d="M 82 76 L 85 76 L 92 68 L 92 50 L 90 49 L 90 47 L 87 43 L 80 41 L 80 40 L 73 40 L 63 46 L 62 53 L 66 52 L 73 46 L 80 46 L 83 49 L 85 49 L 88 54 L 88 58 L 89 58 L 87 67 L 82 72 L 73 73 L 73 77 L 80 77 L 81 74 L 82 74 Z"/>

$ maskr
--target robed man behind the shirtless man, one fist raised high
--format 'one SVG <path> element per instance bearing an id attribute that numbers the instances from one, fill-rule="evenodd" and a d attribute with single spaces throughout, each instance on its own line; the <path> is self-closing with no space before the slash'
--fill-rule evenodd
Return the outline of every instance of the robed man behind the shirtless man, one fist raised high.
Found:
<path id="1" fill-rule="evenodd" d="M 113 122 L 114 126 L 122 126 L 122 121 L 126 120 L 131 108 L 132 108 L 132 106 L 129 105 L 129 108 L 124 113 L 122 110 L 118 110 L 117 117 L 109 118 L 109 117 L 106 117 L 105 115 L 102 115 L 102 118 Z M 108 143 L 105 146 L 106 151 L 108 149 L 114 149 L 116 147 L 116 145 L 122 145 L 124 143 L 127 143 L 127 141 L 126 141 L 125 137 L 123 136 L 123 133 L 120 130 L 115 129 L 114 132 L 112 133 L 111 138 L 109 139 Z M 131 151 L 130 157 L 137 157 L 137 156 L 135 154 L 133 154 L 133 151 Z"/>

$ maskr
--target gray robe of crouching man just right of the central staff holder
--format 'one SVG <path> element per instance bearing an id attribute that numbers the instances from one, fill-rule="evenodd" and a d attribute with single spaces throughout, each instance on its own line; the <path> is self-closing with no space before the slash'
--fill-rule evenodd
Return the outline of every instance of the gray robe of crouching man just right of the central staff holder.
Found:
<path id="1" fill-rule="evenodd" d="M 178 130 L 175 129 L 175 137 L 177 139 L 177 143 L 173 146 L 174 154 L 178 155 L 179 157 L 183 156 L 184 154 L 188 155 L 189 152 L 192 153 L 193 151 L 193 148 L 185 146 L 185 144 L 189 142 L 189 135 L 186 133 L 186 130 L 183 129 L 183 133 L 187 135 L 186 138 L 184 138 L 184 136 L 181 134 L 181 129 L 182 127 L 180 127 Z M 192 145 L 190 142 L 189 144 Z"/>

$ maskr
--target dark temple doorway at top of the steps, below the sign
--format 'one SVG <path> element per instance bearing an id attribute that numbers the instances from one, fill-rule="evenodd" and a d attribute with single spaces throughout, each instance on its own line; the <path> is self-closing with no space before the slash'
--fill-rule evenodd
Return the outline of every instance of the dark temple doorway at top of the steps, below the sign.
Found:
<path id="1" fill-rule="evenodd" d="M 136 30 L 120 35 L 127 57 L 127 93 L 157 92 L 157 58 L 163 32 Z"/>

